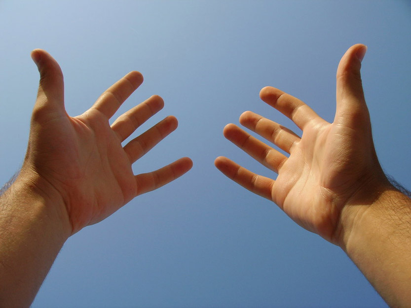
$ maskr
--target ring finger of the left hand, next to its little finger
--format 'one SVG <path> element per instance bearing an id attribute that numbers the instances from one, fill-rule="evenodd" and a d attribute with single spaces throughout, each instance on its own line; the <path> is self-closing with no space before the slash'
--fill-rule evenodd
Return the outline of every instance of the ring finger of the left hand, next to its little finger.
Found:
<path id="1" fill-rule="evenodd" d="M 177 126 L 178 121 L 176 117 L 170 115 L 151 127 L 147 132 L 127 143 L 124 146 L 124 151 L 128 155 L 130 162 L 134 163 L 136 160 L 141 158 L 158 142 L 173 132 Z"/>

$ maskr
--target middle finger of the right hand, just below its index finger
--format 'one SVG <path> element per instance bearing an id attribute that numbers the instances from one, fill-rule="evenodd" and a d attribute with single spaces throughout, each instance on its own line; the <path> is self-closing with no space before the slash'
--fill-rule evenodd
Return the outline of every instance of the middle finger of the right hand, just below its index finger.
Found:
<path id="1" fill-rule="evenodd" d="M 290 153 L 294 143 L 300 140 L 296 134 L 278 123 L 270 121 L 257 113 L 246 111 L 240 116 L 241 125 Z"/>

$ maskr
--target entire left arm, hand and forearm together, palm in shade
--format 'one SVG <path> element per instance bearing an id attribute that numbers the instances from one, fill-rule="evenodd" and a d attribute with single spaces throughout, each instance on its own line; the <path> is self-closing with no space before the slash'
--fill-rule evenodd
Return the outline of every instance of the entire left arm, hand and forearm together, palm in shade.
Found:
<path id="1" fill-rule="evenodd" d="M 141 73 L 128 73 L 90 109 L 71 117 L 64 107 L 59 65 L 43 50 L 34 50 L 32 58 L 40 84 L 27 154 L 16 181 L 0 197 L 0 307 L 29 307 L 71 235 L 192 167 L 189 158 L 181 158 L 159 170 L 133 174 L 132 164 L 178 125 L 168 116 L 122 145 L 164 106 L 159 96 L 152 96 L 109 124 L 143 82 Z"/>

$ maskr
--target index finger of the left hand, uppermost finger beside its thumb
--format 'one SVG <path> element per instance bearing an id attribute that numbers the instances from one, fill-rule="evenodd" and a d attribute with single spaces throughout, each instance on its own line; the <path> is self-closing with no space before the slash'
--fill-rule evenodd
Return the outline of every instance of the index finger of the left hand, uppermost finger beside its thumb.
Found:
<path id="1" fill-rule="evenodd" d="M 129 72 L 108 88 L 94 103 L 92 108 L 102 112 L 108 119 L 122 103 L 143 83 L 143 75 L 138 71 Z"/>

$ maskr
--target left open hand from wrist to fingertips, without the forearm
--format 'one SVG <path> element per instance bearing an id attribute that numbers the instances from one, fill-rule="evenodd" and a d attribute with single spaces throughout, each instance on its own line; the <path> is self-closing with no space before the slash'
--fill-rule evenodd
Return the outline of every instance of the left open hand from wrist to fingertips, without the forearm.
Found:
<path id="1" fill-rule="evenodd" d="M 24 178 L 48 204 L 62 207 L 74 234 L 111 215 L 134 197 L 157 189 L 187 172 L 182 158 L 159 170 L 134 175 L 131 165 L 177 128 L 168 116 L 124 147 L 121 142 L 159 111 L 159 96 L 128 110 L 110 126 L 109 119 L 143 82 L 132 71 L 105 91 L 82 115 L 70 117 L 64 107 L 63 74 L 45 51 L 32 58 L 40 72 L 29 146 L 19 178 Z M 66 214 L 67 213 L 67 214 Z"/>

